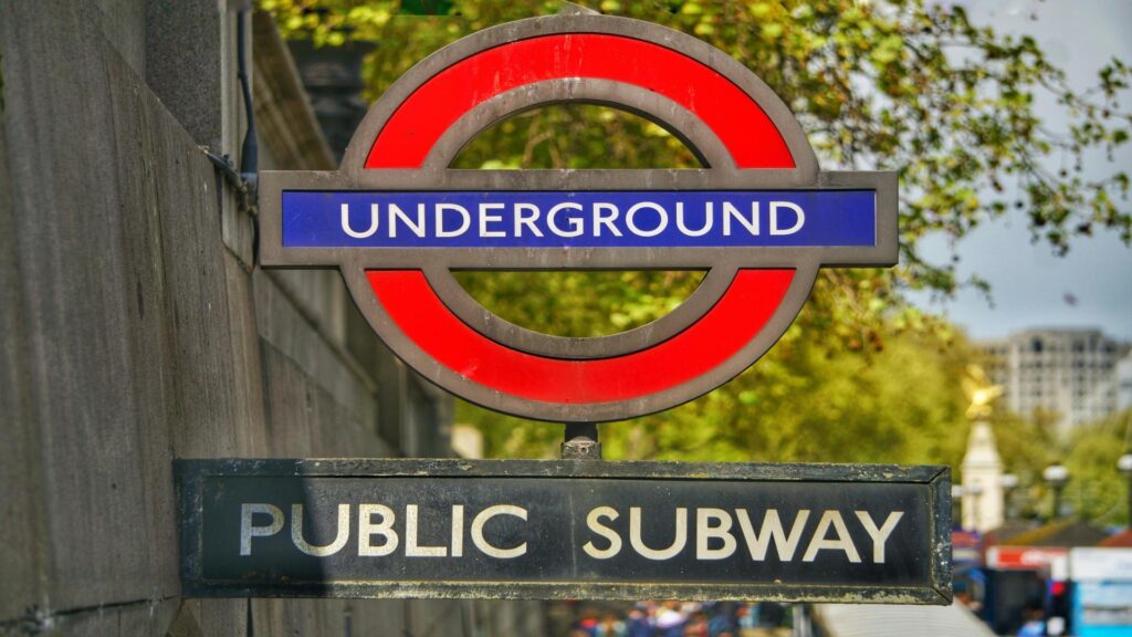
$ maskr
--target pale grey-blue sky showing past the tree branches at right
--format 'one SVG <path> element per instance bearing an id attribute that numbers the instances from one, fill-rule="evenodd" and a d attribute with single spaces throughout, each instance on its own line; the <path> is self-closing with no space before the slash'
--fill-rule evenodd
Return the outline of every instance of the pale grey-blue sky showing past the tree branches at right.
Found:
<path id="1" fill-rule="evenodd" d="M 967 0 L 972 22 L 1000 32 L 1036 37 L 1049 60 L 1063 68 L 1074 87 L 1095 83 L 1096 71 L 1118 57 L 1132 62 L 1132 0 Z M 1036 15 L 1037 19 L 1031 16 Z M 1130 96 L 1132 97 L 1132 96 Z M 1122 104 L 1125 111 L 1132 103 Z M 1050 124 L 1060 119 L 1050 102 L 1039 104 Z M 1132 170 L 1132 148 L 1115 158 Z M 1086 164 L 1094 176 L 1112 172 L 1103 156 Z M 1121 202 L 1124 210 L 1132 202 Z M 924 243 L 925 255 L 936 262 L 950 258 L 943 238 Z M 963 290 L 953 299 L 914 301 L 945 314 L 975 339 L 996 338 L 1036 326 L 1096 326 L 1109 336 L 1132 341 L 1132 248 L 1113 233 L 1074 240 L 1069 255 L 1057 257 L 1048 245 L 1031 244 L 1024 211 L 978 228 L 955 247 L 960 279 L 978 273 L 992 286 L 992 301 L 978 291 Z M 1077 299 L 1075 305 L 1065 300 Z"/>

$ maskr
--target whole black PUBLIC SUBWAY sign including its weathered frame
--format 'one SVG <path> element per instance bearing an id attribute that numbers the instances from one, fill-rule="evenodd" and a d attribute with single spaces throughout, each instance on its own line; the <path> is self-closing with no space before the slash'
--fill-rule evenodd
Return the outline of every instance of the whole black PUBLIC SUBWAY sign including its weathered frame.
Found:
<path id="1" fill-rule="evenodd" d="M 944 467 L 181 460 L 177 475 L 189 596 L 951 600 Z"/>

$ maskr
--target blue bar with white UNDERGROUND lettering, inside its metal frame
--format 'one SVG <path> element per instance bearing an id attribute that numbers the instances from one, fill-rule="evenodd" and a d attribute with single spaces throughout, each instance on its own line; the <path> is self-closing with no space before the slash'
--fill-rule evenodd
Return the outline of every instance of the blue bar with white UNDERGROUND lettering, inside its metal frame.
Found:
<path id="1" fill-rule="evenodd" d="M 283 245 L 872 246 L 875 212 L 873 190 L 286 190 Z"/>

